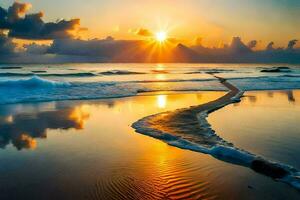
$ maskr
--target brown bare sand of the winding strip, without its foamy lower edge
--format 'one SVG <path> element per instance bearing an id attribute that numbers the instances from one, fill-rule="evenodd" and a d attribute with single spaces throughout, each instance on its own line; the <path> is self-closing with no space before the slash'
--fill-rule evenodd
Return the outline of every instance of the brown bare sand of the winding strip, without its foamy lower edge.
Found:
<path id="1" fill-rule="evenodd" d="M 148 134 L 150 131 L 157 131 L 155 136 L 157 136 L 158 139 L 160 139 L 160 136 L 163 136 L 161 133 L 169 133 L 172 136 L 179 136 L 183 139 L 193 137 L 195 133 L 197 133 L 198 135 L 205 136 L 205 138 L 198 137 L 198 140 L 194 141 L 198 144 L 207 147 L 212 147 L 216 144 L 223 144 L 224 141 L 215 135 L 210 127 L 203 126 L 201 122 L 199 122 L 199 114 L 203 113 L 203 117 L 206 117 L 207 114 L 239 100 L 243 93 L 225 79 L 220 77 L 217 78 L 229 89 L 229 92 L 227 92 L 224 96 L 206 104 L 145 117 L 134 123 L 133 127 L 136 128 L 137 132 L 145 134 Z M 142 126 L 146 127 L 147 130 L 140 129 L 140 124 L 143 124 Z"/>

